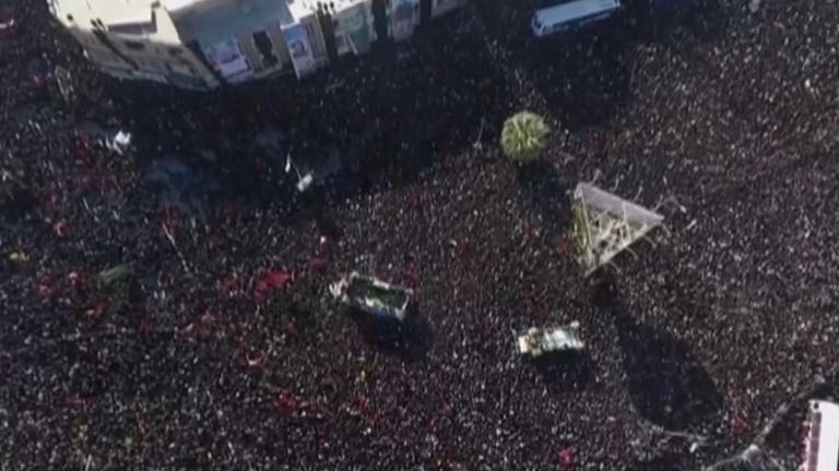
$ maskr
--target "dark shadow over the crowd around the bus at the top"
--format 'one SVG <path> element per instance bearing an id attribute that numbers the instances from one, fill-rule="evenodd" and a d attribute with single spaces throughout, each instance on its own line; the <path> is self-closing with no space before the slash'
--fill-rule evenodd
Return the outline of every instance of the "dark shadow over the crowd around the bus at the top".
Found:
<path id="1" fill-rule="evenodd" d="M 610 19 L 579 29 L 533 36 L 532 12 L 557 0 L 482 0 L 478 14 L 491 39 L 515 58 L 563 126 L 580 131 L 601 125 L 631 98 L 630 58 L 637 46 L 682 48 L 720 37 L 725 16 L 718 0 L 628 0 Z"/>

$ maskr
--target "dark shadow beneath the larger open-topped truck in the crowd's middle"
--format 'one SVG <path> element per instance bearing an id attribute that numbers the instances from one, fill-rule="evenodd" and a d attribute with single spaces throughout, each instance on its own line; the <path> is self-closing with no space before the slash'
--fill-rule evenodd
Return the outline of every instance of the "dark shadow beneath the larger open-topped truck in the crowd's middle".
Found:
<path id="1" fill-rule="evenodd" d="M 351 309 L 358 333 L 373 349 L 404 361 L 425 358 L 434 345 L 434 331 L 425 318 L 410 315 L 405 321 L 385 318 Z"/>

